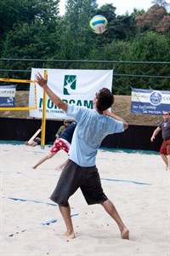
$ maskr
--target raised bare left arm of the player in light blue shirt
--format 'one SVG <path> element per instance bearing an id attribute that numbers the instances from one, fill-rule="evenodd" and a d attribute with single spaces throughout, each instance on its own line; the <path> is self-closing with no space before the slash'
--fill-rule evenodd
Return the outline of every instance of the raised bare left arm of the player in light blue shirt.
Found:
<path id="1" fill-rule="evenodd" d="M 67 111 L 68 104 L 63 102 L 59 96 L 54 94 L 54 92 L 48 87 L 48 76 L 46 76 L 46 79 L 42 78 L 42 75 L 40 73 L 37 73 L 36 75 L 36 82 L 39 84 L 43 90 L 47 93 L 48 97 L 51 99 L 54 104 L 63 109 L 64 111 Z"/>

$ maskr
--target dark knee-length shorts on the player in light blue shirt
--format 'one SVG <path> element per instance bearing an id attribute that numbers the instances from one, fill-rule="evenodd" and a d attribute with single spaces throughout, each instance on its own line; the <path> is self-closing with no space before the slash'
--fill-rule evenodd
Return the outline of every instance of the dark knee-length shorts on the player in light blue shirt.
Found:
<path id="1" fill-rule="evenodd" d="M 77 189 L 82 194 L 88 205 L 106 201 L 108 198 L 101 187 L 99 172 L 96 166 L 82 167 L 69 160 L 61 172 L 59 181 L 50 199 L 59 206 L 68 207 L 68 200 Z"/>

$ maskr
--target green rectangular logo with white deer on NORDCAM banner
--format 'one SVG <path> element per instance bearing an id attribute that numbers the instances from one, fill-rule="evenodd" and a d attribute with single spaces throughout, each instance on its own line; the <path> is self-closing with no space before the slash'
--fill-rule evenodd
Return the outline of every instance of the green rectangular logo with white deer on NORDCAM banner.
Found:
<path id="1" fill-rule="evenodd" d="M 65 75 L 64 95 L 71 95 L 77 89 L 77 76 Z"/>

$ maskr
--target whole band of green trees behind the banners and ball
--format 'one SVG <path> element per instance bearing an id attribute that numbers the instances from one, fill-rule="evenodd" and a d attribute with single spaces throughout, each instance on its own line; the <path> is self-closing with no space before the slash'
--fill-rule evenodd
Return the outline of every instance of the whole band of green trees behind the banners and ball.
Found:
<path id="1" fill-rule="evenodd" d="M 116 15 L 113 4 L 98 8 L 96 0 L 67 0 L 59 16 L 59 0 L 3 0 L 0 53 L 16 59 L 1 61 L 3 77 L 29 79 L 31 67 L 113 68 L 116 94 L 128 95 L 132 86 L 169 90 L 163 77 L 170 73 L 170 15 L 166 1 L 153 3 L 146 12 Z M 89 27 L 94 15 L 108 20 L 103 34 Z"/>

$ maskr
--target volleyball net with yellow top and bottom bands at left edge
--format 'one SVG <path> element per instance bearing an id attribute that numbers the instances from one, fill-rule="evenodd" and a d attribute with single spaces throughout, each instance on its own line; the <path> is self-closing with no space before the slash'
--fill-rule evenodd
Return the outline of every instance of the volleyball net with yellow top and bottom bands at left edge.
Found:
<path id="1" fill-rule="evenodd" d="M 36 81 L 0 78 L 0 83 L 1 82 L 5 82 L 5 85 L 3 85 L 3 83 L 0 85 L 0 111 L 21 111 L 37 108 Z M 8 83 L 8 85 L 6 85 L 6 83 Z M 23 90 L 17 90 L 18 83 L 20 83 L 20 87 L 23 87 Z M 25 84 L 30 84 L 34 90 L 31 90 L 31 93 L 25 90 Z"/>

